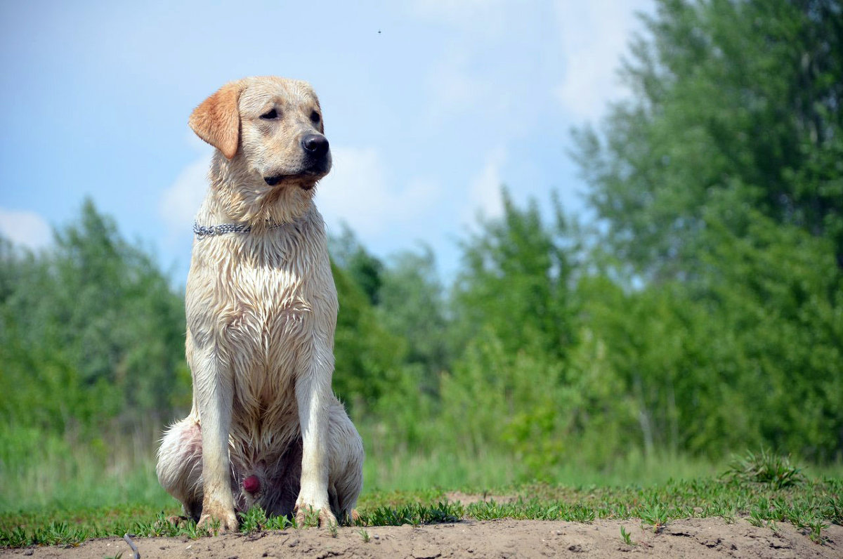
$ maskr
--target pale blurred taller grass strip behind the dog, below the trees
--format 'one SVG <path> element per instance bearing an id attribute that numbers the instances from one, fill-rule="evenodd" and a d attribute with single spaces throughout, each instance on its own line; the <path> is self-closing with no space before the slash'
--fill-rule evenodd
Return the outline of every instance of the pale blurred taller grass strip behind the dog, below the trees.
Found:
<path id="1" fill-rule="evenodd" d="M 37 433 L 35 433 L 37 434 Z M 20 442 L 0 435 L 0 513 L 59 510 L 73 513 L 113 506 L 172 507 L 155 477 L 154 438 L 129 443 L 115 455 L 107 449 L 73 446 L 52 435 Z M 374 437 L 364 440 L 376 439 Z M 14 448 L 15 444 L 22 448 Z M 483 492 L 488 487 L 535 481 L 536 472 L 512 454 L 413 453 L 367 448 L 365 491 L 421 491 L 428 487 Z M 723 465 L 682 456 L 629 454 L 602 468 L 569 463 L 544 472 L 543 479 L 566 486 L 644 486 L 671 477 L 717 475 Z"/>

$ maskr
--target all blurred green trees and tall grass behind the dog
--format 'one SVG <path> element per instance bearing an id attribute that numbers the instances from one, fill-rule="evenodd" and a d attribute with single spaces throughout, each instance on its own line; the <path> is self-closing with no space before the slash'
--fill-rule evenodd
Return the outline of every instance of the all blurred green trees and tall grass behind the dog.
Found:
<path id="1" fill-rule="evenodd" d="M 447 285 L 430 250 L 333 237 L 368 487 L 645 482 L 760 447 L 839 466 L 841 43 L 836 1 L 662 0 L 633 94 L 573 132 L 592 218 L 502 188 Z M 169 503 L 173 284 L 91 201 L 47 250 L 0 241 L 0 508 Z"/>

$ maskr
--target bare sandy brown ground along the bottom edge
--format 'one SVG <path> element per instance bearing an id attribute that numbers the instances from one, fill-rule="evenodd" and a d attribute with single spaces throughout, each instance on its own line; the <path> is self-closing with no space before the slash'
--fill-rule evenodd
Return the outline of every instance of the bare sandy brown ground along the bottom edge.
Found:
<path id="1" fill-rule="evenodd" d="M 620 537 L 624 526 L 636 545 Z M 455 524 L 341 528 L 336 537 L 326 529 L 287 529 L 252 535 L 222 535 L 201 540 L 137 538 L 144 559 L 245 559 L 248 557 L 843 557 L 843 527 L 824 530 L 820 546 L 791 524 L 778 531 L 756 528 L 746 520 L 674 520 L 660 533 L 644 530 L 635 520 L 598 520 L 593 524 L 539 520 L 465 520 Z M 30 547 L 0 550 L 0 556 L 114 557 L 133 556 L 124 540 L 89 540 L 78 547 Z"/>

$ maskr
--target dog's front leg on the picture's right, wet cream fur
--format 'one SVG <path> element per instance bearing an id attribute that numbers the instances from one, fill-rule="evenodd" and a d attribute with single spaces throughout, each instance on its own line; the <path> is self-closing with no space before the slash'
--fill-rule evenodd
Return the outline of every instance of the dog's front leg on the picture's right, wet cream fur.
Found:
<path id="1" fill-rule="evenodd" d="M 303 525 L 309 513 L 319 515 L 322 526 L 336 525 L 328 502 L 328 446 L 330 427 L 330 378 L 334 355 L 315 348 L 296 379 L 298 421 L 302 430 L 302 478 L 296 499 L 296 522 Z"/>

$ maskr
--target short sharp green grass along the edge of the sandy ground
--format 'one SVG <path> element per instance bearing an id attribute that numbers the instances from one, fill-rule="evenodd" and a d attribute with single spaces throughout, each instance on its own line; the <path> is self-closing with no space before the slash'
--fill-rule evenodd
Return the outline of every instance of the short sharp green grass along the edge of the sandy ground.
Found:
<path id="1" fill-rule="evenodd" d="M 736 460 L 721 476 L 702 476 L 653 484 L 566 484 L 528 482 L 501 486 L 463 486 L 467 492 L 505 495 L 475 503 L 448 499 L 442 489 L 369 490 L 358 503 L 358 534 L 382 525 L 436 524 L 460 519 L 535 519 L 590 523 L 595 519 L 637 519 L 660 532 L 675 519 L 719 517 L 745 519 L 776 530 L 790 523 L 822 543 L 830 524 L 843 523 L 843 477 L 807 476 L 787 460 L 769 453 Z M 147 493 L 143 493 L 147 495 Z M 126 533 L 138 537 L 206 535 L 192 522 L 167 521 L 179 513 L 172 499 L 117 507 L 35 507 L 0 513 L 0 547 L 77 545 L 83 540 Z M 244 533 L 296 528 L 293 519 L 267 518 L 255 508 L 241 517 Z M 335 528 L 336 529 L 336 528 Z M 332 531 L 332 535 L 336 533 Z M 626 534 L 626 535 L 625 535 Z M 629 543 L 628 533 L 621 537 Z"/>

